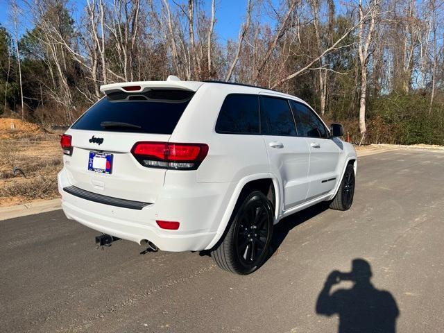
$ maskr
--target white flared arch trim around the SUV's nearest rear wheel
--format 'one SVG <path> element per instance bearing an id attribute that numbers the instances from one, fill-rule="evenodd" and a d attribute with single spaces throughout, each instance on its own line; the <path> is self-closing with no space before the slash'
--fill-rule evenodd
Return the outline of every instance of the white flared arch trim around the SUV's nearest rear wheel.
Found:
<path id="1" fill-rule="evenodd" d="M 217 229 L 214 238 L 212 239 L 210 244 L 208 244 L 205 250 L 210 250 L 216 244 L 218 244 L 225 232 L 228 230 L 228 223 L 230 222 L 234 210 L 239 204 L 239 199 L 248 195 L 248 193 L 253 190 L 262 191 L 262 193 L 264 193 L 264 195 L 271 200 L 271 203 L 274 206 L 273 210 L 275 221 L 277 221 L 281 204 L 281 193 L 278 178 L 273 176 L 272 173 L 257 173 L 255 175 L 246 176 L 239 180 L 236 187 L 234 188 L 230 201 L 225 207 L 225 212 L 223 213 L 221 223 L 219 223 L 219 228 Z M 270 193 L 270 190 L 272 194 Z"/>

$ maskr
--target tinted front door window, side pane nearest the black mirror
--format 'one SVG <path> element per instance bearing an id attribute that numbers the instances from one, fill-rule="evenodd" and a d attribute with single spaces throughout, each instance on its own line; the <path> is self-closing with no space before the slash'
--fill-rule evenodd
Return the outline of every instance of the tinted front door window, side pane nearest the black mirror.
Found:
<path id="1" fill-rule="evenodd" d="M 313 111 L 302 103 L 295 101 L 290 101 L 290 103 L 295 114 L 298 135 L 301 137 L 328 137 L 327 128 Z"/>

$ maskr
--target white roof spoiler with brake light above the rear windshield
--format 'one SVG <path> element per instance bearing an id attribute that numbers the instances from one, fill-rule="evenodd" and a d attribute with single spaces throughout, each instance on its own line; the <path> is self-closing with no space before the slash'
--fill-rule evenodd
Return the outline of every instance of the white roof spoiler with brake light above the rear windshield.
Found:
<path id="1" fill-rule="evenodd" d="M 112 92 L 144 92 L 146 90 L 157 89 L 182 89 L 190 92 L 196 92 L 202 82 L 182 81 L 177 76 L 170 75 L 166 81 L 135 81 L 124 83 L 111 83 L 110 85 L 101 85 L 100 91 L 104 94 Z"/>

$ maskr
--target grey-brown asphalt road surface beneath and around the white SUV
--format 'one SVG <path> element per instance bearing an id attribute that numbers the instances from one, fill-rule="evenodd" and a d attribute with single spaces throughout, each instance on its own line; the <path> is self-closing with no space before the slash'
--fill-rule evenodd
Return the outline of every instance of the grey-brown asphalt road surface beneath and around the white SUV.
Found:
<path id="1" fill-rule="evenodd" d="M 352 209 L 284 219 L 244 277 L 198 253 L 95 250 L 97 232 L 60 210 L 0 221 L 0 331 L 444 332 L 443 166 L 437 151 L 359 158 Z M 355 287 L 323 289 L 357 258 Z"/>

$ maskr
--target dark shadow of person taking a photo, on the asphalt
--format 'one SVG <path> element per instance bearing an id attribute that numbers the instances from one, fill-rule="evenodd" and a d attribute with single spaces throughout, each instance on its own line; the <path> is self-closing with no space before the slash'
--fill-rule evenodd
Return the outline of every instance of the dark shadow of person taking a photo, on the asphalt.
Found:
<path id="1" fill-rule="evenodd" d="M 370 282 L 372 271 L 364 259 L 352 260 L 352 271 L 332 271 L 316 302 L 316 313 L 339 316 L 339 333 L 395 333 L 400 311 L 388 291 L 376 289 Z M 351 281 L 350 289 L 330 293 L 335 284 Z"/>

